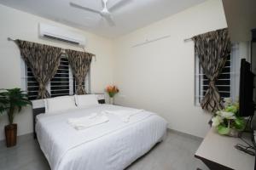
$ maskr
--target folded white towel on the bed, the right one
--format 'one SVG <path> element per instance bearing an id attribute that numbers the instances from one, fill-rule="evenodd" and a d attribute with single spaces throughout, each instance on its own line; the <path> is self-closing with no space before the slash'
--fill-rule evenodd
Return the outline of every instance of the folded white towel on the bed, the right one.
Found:
<path id="1" fill-rule="evenodd" d="M 135 116 L 141 113 L 142 111 L 143 110 L 133 110 L 133 111 L 119 110 L 119 111 L 104 111 L 104 112 L 118 116 L 122 122 L 130 122 L 131 116 Z"/>

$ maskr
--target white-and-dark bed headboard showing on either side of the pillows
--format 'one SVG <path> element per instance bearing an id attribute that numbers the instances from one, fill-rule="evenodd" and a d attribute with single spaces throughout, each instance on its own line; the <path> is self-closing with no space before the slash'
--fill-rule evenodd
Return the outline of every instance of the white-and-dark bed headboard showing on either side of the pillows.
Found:
<path id="1" fill-rule="evenodd" d="M 99 104 L 105 104 L 105 94 L 96 94 Z M 36 133 L 36 117 L 39 114 L 45 113 L 44 99 L 32 100 L 32 114 L 33 114 L 33 135 L 34 139 L 37 139 Z"/>

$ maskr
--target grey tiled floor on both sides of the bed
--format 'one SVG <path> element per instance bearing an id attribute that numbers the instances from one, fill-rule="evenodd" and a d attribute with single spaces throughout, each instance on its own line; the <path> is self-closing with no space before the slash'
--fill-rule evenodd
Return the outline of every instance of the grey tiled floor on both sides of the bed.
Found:
<path id="1" fill-rule="evenodd" d="M 195 159 L 194 154 L 201 139 L 170 131 L 166 139 L 157 144 L 126 170 L 193 170 L 208 169 Z M 49 164 L 32 136 L 19 140 L 13 148 L 0 146 L 1 170 L 49 170 Z"/>

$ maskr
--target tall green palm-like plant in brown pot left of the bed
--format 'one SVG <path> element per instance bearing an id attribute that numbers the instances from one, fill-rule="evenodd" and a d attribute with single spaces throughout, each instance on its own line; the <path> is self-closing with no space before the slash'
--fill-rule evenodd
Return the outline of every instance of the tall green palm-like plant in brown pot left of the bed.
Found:
<path id="1" fill-rule="evenodd" d="M 27 94 L 20 88 L 0 90 L 0 114 L 7 113 L 9 125 L 4 127 L 6 146 L 15 146 L 17 139 L 17 124 L 14 123 L 15 113 L 20 113 L 22 107 L 31 105 Z"/>

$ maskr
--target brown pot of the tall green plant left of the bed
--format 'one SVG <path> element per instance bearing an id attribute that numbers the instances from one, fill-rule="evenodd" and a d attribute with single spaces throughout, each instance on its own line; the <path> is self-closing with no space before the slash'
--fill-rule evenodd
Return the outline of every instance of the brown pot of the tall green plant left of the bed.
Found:
<path id="1" fill-rule="evenodd" d="M 12 147 L 17 141 L 17 124 L 10 124 L 4 127 L 6 146 Z"/>

